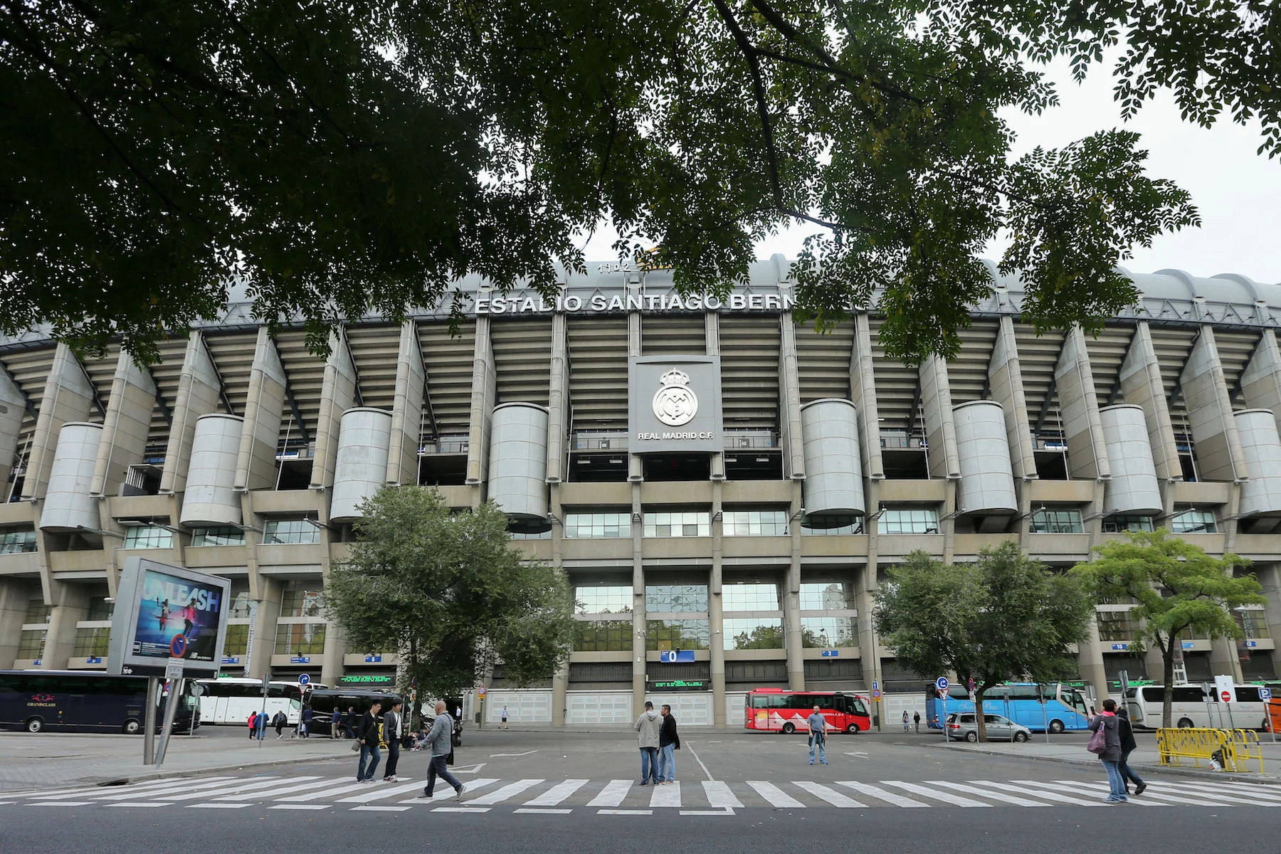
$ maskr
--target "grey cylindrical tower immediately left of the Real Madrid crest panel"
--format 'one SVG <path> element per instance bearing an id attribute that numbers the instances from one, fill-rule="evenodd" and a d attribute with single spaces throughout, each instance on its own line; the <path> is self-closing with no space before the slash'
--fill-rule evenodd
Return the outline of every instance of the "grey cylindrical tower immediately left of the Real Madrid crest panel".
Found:
<path id="1" fill-rule="evenodd" d="M 489 428 L 489 499 L 524 531 L 551 530 L 547 517 L 547 408 L 493 407 Z"/>

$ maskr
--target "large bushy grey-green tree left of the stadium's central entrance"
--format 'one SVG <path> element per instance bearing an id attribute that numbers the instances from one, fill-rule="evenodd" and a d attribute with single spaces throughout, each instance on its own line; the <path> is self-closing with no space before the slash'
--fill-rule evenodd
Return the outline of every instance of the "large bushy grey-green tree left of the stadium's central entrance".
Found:
<path id="1" fill-rule="evenodd" d="M 451 513 L 434 488 L 388 487 L 361 512 L 325 608 L 348 645 L 400 652 L 401 690 L 416 677 L 424 697 L 448 697 L 496 662 L 525 685 L 567 658 L 569 583 L 511 548 L 496 504 Z"/>

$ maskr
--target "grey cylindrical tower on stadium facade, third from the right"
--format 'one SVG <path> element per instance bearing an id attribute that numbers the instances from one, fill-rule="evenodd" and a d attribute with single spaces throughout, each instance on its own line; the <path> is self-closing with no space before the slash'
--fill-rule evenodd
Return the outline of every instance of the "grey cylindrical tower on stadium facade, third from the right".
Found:
<path id="1" fill-rule="evenodd" d="M 963 513 L 1016 513 L 1015 470 L 1009 461 L 1006 411 L 995 401 L 952 407 L 961 483 L 957 507 Z"/>

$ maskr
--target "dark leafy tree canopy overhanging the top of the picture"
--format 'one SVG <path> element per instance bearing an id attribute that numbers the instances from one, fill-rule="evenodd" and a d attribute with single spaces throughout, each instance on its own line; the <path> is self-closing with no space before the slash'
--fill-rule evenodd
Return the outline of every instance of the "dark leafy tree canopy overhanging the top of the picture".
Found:
<path id="1" fill-rule="evenodd" d="M 1035 61 L 1079 20 L 1149 4 L 974 5 L 6 0 L 0 330 L 152 360 L 234 280 L 324 352 L 457 277 L 548 294 L 602 219 L 620 257 L 721 296 L 757 239 L 811 227 L 798 316 L 879 293 L 908 362 L 958 350 L 1004 232 L 1022 316 L 1098 329 L 1136 298 L 1117 262 L 1198 214 L 1136 134 L 1016 159 L 1000 111 L 1054 106 Z"/>

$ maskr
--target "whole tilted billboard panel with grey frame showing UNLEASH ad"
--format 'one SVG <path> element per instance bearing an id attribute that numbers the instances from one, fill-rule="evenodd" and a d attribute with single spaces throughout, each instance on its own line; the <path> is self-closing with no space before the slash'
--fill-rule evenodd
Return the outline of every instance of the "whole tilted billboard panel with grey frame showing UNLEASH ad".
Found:
<path id="1" fill-rule="evenodd" d="M 164 675 L 165 665 L 181 658 L 186 675 L 216 673 L 231 585 L 214 575 L 128 558 L 115 594 L 108 672 Z"/>

